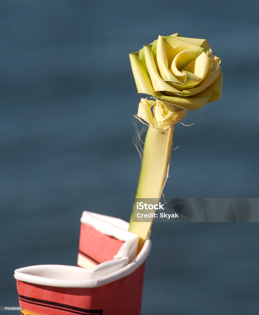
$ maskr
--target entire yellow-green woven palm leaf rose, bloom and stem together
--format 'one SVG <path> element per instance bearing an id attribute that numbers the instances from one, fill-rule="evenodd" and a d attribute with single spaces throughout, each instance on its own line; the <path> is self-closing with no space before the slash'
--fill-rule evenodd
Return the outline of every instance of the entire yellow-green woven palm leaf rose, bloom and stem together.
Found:
<path id="1" fill-rule="evenodd" d="M 174 125 L 188 110 L 201 108 L 221 97 L 221 60 L 207 40 L 159 36 L 153 43 L 129 55 L 138 93 L 142 98 L 135 115 L 148 131 L 136 193 L 138 198 L 161 198 L 168 177 Z M 135 211 L 135 208 L 132 210 Z M 130 221 L 130 231 L 140 237 L 139 249 L 152 222 Z"/>

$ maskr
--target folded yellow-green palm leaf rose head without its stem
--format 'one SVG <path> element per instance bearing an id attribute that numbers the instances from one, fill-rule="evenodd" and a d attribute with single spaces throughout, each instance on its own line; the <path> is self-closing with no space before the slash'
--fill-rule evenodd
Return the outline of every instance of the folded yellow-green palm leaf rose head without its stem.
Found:
<path id="1" fill-rule="evenodd" d="M 221 97 L 221 60 L 205 39 L 159 36 L 130 54 L 130 62 L 138 93 L 152 95 L 172 112 L 195 110 Z"/>

